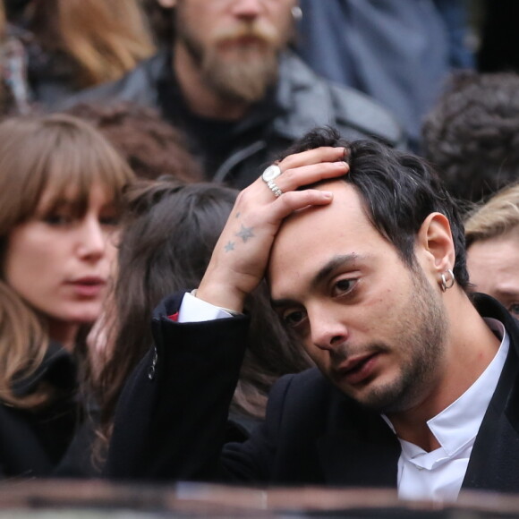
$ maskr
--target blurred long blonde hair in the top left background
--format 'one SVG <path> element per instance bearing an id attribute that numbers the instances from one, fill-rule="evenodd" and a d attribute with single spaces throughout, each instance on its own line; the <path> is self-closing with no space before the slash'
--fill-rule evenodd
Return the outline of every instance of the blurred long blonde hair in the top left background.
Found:
<path id="1" fill-rule="evenodd" d="M 139 0 L 45 0 L 34 6 L 31 30 L 78 65 L 78 86 L 122 76 L 154 52 Z"/>

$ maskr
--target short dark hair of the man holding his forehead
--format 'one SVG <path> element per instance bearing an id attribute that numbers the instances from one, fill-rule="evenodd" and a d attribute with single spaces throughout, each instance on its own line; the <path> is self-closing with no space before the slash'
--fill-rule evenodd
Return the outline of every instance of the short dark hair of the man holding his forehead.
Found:
<path id="1" fill-rule="evenodd" d="M 360 193 L 371 224 L 411 268 L 417 265 L 414 244 L 425 218 L 433 212 L 447 217 L 455 245 L 455 278 L 458 285 L 468 288 L 462 217 L 438 174 L 424 159 L 371 140 L 349 142 L 331 128 L 307 133 L 284 156 L 320 146 L 345 148 L 350 171 L 342 178 Z"/>

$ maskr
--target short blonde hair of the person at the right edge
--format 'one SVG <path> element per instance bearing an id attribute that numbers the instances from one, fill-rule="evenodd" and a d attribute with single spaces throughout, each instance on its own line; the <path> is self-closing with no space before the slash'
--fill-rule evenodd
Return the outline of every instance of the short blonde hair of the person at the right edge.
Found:
<path id="1" fill-rule="evenodd" d="M 519 183 L 476 206 L 465 220 L 466 247 L 507 234 L 519 226 Z"/>

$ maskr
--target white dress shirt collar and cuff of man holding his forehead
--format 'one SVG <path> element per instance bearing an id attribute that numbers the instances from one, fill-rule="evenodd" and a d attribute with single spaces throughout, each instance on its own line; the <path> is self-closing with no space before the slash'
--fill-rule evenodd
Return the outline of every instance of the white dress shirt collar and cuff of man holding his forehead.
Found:
<path id="1" fill-rule="evenodd" d="M 178 322 L 199 322 L 231 318 L 232 315 L 191 294 L 185 294 Z M 441 502 L 455 501 L 464 481 L 474 440 L 487 411 L 508 353 L 510 339 L 505 327 L 496 319 L 485 319 L 487 325 L 501 338 L 498 353 L 462 396 L 427 425 L 440 447 L 431 452 L 399 439 L 402 454 L 398 459 L 398 497 L 427 499 Z M 391 421 L 382 416 L 395 431 Z"/>

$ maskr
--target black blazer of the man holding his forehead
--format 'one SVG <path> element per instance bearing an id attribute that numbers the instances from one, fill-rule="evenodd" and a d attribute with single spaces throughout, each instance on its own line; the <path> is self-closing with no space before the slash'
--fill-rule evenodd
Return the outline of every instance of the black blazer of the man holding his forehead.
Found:
<path id="1" fill-rule="evenodd" d="M 395 434 L 315 369 L 280 379 L 266 421 L 248 441 L 224 445 L 248 319 L 177 324 L 166 316 L 181 297 L 156 311 L 157 362 L 152 369 L 149 352 L 123 391 L 107 476 L 396 488 Z M 519 328 L 489 296 L 478 294 L 476 306 L 504 323 L 511 345 L 463 488 L 518 491 Z"/>

